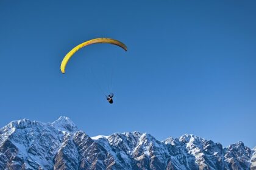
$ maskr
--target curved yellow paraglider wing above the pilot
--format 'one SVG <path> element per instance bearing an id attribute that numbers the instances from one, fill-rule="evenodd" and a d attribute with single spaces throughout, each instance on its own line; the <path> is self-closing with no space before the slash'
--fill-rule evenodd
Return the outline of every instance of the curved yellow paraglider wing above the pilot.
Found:
<path id="1" fill-rule="evenodd" d="M 127 51 L 126 45 L 123 44 L 123 42 L 120 42 L 116 39 L 112 39 L 112 38 L 91 39 L 89 41 L 83 42 L 82 44 L 79 44 L 78 46 L 74 47 L 74 49 L 72 49 L 71 51 L 69 51 L 66 54 L 66 56 L 62 60 L 62 64 L 60 65 L 60 70 L 62 71 L 62 73 L 65 73 L 66 64 L 68 64 L 69 59 L 74 55 L 74 53 L 76 53 L 79 49 L 82 49 L 82 47 L 88 46 L 90 44 L 96 44 L 96 43 L 113 44 L 113 45 L 119 46 L 119 47 L 121 47 L 121 48 L 123 48 L 124 50 Z"/>

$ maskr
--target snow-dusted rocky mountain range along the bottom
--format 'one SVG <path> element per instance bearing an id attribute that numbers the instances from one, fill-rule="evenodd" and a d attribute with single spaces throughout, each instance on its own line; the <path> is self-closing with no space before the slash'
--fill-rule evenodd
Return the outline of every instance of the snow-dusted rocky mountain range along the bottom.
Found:
<path id="1" fill-rule="evenodd" d="M 241 141 L 222 148 L 194 135 L 91 138 L 66 117 L 53 123 L 24 119 L 0 129 L 0 169 L 256 169 L 256 149 Z"/>

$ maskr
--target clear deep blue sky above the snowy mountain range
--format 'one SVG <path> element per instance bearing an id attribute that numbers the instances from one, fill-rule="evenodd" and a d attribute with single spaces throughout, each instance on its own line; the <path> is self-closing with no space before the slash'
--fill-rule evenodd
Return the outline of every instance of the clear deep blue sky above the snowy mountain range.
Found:
<path id="1" fill-rule="evenodd" d="M 233 0 L 1 0 L 0 126 L 63 115 L 90 136 L 194 134 L 252 148 L 255 9 L 256 1 Z M 98 37 L 128 51 L 94 44 L 60 72 L 69 50 Z M 96 84 L 107 89 L 112 70 L 111 105 Z"/>

